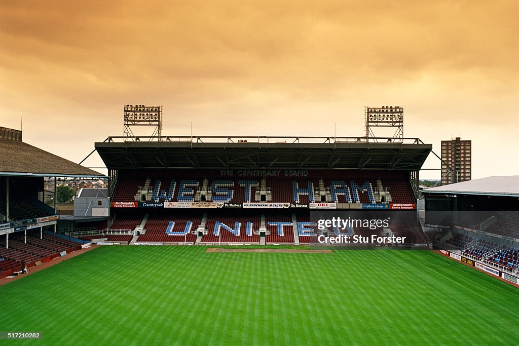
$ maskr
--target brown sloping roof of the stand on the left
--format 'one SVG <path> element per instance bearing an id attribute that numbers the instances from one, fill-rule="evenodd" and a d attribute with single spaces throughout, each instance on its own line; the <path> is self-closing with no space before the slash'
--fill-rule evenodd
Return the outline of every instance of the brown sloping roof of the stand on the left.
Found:
<path id="1" fill-rule="evenodd" d="M 0 138 L 0 175 L 104 177 L 30 144 Z"/>

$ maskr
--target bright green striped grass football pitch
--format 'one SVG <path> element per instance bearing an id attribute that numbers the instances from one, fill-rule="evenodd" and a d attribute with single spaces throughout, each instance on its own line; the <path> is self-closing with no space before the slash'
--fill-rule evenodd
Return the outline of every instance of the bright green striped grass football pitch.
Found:
<path id="1" fill-rule="evenodd" d="M 519 289 L 430 251 L 102 246 L 0 287 L 42 344 L 517 344 Z"/>

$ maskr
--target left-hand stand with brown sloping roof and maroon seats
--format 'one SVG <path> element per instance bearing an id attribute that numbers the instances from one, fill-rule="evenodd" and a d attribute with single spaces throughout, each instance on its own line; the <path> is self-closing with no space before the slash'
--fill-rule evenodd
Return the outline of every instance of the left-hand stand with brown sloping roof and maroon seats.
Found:
<path id="1" fill-rule="evenodd" d="M 104 175 L 24 143 L 19 130 L 0 128 L 0 148 L 0 276 L 6 276 L 80 247 L 45 233 L 56 230 L 58 215 L 42 202 L 44 178 Z"/>

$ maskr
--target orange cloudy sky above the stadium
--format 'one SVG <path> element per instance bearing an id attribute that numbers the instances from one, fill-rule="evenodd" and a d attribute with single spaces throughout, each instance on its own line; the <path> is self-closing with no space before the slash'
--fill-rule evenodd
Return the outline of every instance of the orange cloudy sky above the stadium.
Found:
<path id="1" fill-rule="evenodd" d="M 79 162 L 126 104 L 163 105 L 163 134 L 316 136 L 399 105 L 438 153 L 471 139 L 473 178 L 519 174 L 517 18 L 515 0 L 2 1 L 0 126 L 23 110 L 25 142 Z"/>

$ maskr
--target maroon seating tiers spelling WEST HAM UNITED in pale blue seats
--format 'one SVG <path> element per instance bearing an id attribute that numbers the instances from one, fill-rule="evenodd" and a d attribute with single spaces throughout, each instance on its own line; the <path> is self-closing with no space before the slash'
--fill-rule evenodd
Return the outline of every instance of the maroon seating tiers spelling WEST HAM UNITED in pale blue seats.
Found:
<path id="1" fill-rule="evenodd" d="M 220 176 L 220 171 L 217 170 L 199 170 L 194 176 L 191 171 L 185 170 L 120 170 L 113 202 L 216 202 L 237 203 L 238 206 L 247 202 L 416 203 L 408 178 L 404 178 L 407 176 L 406 172 L 318 170 L 305 174 L 308 176 L 244 177 Z M 133 229 L 142 220 L 142 214 L 137 216 L 132 210 L 128 213 L 126 208 L 113 208 L 112 214 L 116 218 L 111 229 Z M 202 211 L 197 212 L 196 209 L 186 217 L 151 213 L 144 225 L 146 232 L 137 241 L 183 242 L 183 232 L 190 222 L 186 241 L 194 242 L 202 214 Z M 301 237 L 299 241 L 317 242 L 319 232 L 310 221 L 308 209 L 297 212 L 296 219 L 297 232 Z M 282 235 L 278 226 L 281 224 L 278 223 L 283 225 Z M 225 212 L 223 209 L 218 209 L 217 212 L 209 210 L 203 225 L 206 234 L 203 234 L 200 241 L 258 243 L 260 236 L 254 233 L 258 233 L 262 225 L 270 233 L 266 234 L 266 243 L 295 242 L 290 211 L 256 210 L 254 213 L 247 213 L 243 209 Z M 394 228 L 400 233 L 409 233 L 409 242 L 427 242 L 422 235 L 413 234 L 409 226 L 394 224 Z M 222 237 L 219 236 L 220 231 Z M 356 232 L 368 236 L 373 233 L 380 235 L 380 230 L 373 232 L 359 228 Z"/>

